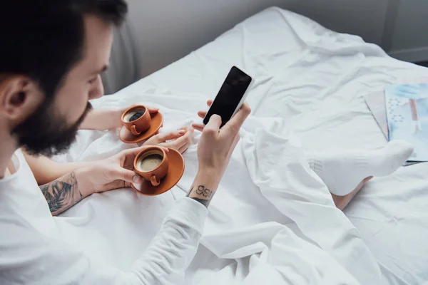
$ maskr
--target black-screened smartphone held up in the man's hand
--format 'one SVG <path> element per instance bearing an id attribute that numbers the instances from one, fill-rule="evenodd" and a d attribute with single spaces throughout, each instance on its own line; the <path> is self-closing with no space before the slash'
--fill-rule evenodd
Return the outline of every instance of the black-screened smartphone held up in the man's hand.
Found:
<path id="1" fill-rule="evenodd" d="M 233 66 L 223 85 L 218 91 L 207 115 L 203 118 L 206 125 L 211 116 L 216 114 L 221 117 L 221 127 L 238 112 L 248 95 L 253 78 L 236 66 Z M 220 127 L 220 128 L 221 128 Z"/>

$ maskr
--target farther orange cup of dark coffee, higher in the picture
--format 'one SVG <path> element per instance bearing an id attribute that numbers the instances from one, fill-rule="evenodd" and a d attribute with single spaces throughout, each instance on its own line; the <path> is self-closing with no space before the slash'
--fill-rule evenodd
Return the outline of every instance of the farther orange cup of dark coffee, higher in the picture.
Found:
<path id="1" fill-rule="evenodd" d="M 133 135 L 146 132 L 151 125 L 151 116 L 145 105 L 136 105 L 122 115 L 122 123 Z"/>

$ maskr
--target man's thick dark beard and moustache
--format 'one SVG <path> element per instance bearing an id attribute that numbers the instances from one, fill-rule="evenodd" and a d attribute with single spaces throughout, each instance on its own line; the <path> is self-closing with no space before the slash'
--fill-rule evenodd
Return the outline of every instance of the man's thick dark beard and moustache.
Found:
<path id="1" fill-rule="evenodd" d="M 92 105 L 88 103 L 78 121 L 68 125 L 65 118 L 54 115 L 53 103 L 44 103 L 12 133 L 18 138 L 19 146 L 31 155 L 58 155 L 76 140 L 78 127 L 91 109 Z"/>

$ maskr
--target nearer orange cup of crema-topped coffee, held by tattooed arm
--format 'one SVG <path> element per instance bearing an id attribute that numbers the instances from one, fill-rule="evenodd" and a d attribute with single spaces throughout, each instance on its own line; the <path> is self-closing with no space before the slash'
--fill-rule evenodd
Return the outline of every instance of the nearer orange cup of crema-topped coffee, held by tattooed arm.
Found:
<path id="1" fill-rule="evenodd" d="M 162 178 L 168 174 L 168 168 L 168 157 L 162 147 L 147 147 L 134 160 L 134 171 L 153 186 L 161 184 Z"/>

